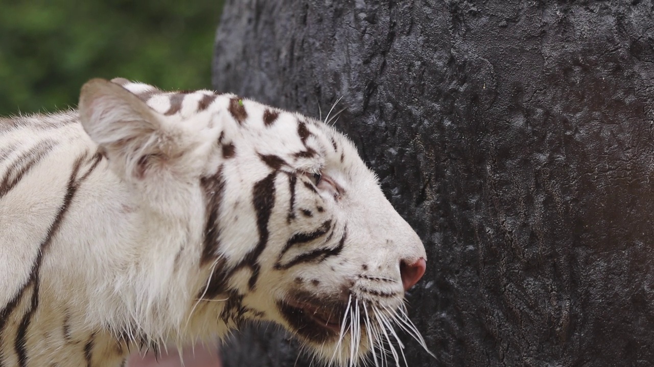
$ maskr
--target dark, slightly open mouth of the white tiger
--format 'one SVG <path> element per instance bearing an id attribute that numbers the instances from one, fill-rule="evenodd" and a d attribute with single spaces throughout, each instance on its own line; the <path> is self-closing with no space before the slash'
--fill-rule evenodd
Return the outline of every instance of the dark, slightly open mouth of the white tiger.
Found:
<path id="1" fill-rule="evenodd" d="M 309 342 L 336 340 L 341 333 L 345 310 L 343 304 L 302 297 L 278 302 L 278 306 L 293 330 Z"/>

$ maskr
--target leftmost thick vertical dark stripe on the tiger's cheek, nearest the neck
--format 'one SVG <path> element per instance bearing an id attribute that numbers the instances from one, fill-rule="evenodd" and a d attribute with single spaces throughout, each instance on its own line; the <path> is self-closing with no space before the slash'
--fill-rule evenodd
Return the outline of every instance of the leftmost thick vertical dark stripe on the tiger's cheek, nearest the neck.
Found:
<path id="1" fill-rule="evenodd" d="M 220 166 L 213 176 L 200 179 L 200 187 L 207 203 L 201 265 L 218 256 L 218 247 L 220 247 L 220 206 L 222 205 L 226 186 L 222 171 L 223 167 Z"/>

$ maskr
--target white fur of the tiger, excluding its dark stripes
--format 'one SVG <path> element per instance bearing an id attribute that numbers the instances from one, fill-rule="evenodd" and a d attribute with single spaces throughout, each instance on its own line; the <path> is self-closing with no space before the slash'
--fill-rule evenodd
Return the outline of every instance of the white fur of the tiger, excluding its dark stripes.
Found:
<path id="1" fill-rule="evenodd" d="M 134 93 L 153 90 L 135 83 L 125 88 Z M 265 320 L 290 328 L 275 302 L 298 287 L 294 285 L 298 277 L 320 279 L 320 286 L 311 289 L 316 295 L 338 293 L 347 280 L 354 281 L 354 294 L 364 285 L 404 292 L 400 261 L 424 258 L 424 248 L 345 137 L 318 121 L 282 111 L 266 127 L 262 115 L 269 107 L 249 100 L 241 100 L 248 117 L 239 125 L 228 112 L 233 95 L 219 95 L 197 112 L 199 101 L 209 91 L 188 95 L 177 114 L 165 116 L 171 108 L 169 94 L 154 95 L 148 106 L 127 89 L 92 80 L 82 89 L 79 112 L 0 120 L 0 180 L 9 172 L 12 158 L 44 140 L 53 142 L 48 155 L 0 197 L 0 310 L 29 279 L 39 246 L 61 208 L 76 159 L 86 155 L 75 178 L 79 180 L 90 172 L 98 149 L 106 155 L 80 183 L 60 227 L 43 249 L 39 308 L 26 338 L 29 365 L 46 365 L 46 361 L 76 365 L 84 359 L 83 349 L 62 341 L 65 317 L 72 338 L 81 342 L 93 338 L 93 358 L 104 359 L 97 364 L 102 366 L 118 365 L 128 353 L 127 348 L 109 346 L 121 333 L 128 334 L 128 339 L 185 343 L 224 336 L 234 328 L 230 321 L 220 319 L 228 294 L 202 301 L 198 295 L 210 282 L 215 266 L 239 263 L 259 240 L 252 187 L 271 173 L 260 154 L 282 157 L 290 163 L 281 168 L 288 174 L 322 172 L 343 195 L 334 200 L 333 187 L 320 191 L 324 214 L 298 216 L 291 225 L 286 219 L 287 176 L 275 178 L 277 195 L 267 227 L 268 244 L 259 257 L 256 288 L 249 290 L 252 272 L 247 267 L 230 279 L 230 289 L 243 296 L 243 304 L 266 312 Z M 292 155 L 305 149 L 297 136 L 298 118 L 307 120 L 312 135 L 306 146 L 318 152 L 315 157 Z M 71 119 L 81 123 L 57 122 Z M 4 125 L 12 127 L 3 131 Z M 225 143 L 235 146 L 230 159 L 222 156 L 221 133 Z M 16 148 L 1 159 L 3 148 L 12 146 Z M 200 180 L 214 175 L 221 165 L 226 190 L 220 212 L 220 253 L 201 266 L 207 206 Z M 296 195 L 298 207 L 315 206 L 315 196 L 301 190 Z M 347 227 L 346 246 L 337 259 L 274 270 L 288 238 L 313 231 L 328 218 Z M 345 229 L 341 226 L 338 231 Z M 289 259 L 301 253 L 293 251 L 286 255 Z M 359 279 L 364 263 L 370 274 L 395 281 L 370 285 Z M 29 308 L 30 295 L 28 289 L 16 310 Z M 402 296 L 380 302 L 394 309 Z M 12 345 L 22 314 L 11 314 L 0 334 L 5 365 L 11 366 L 17 358 Z M 361 338 L 363 344 L 368 336 Z M 357 347 L 355 357 L 368 349 Z M 350 351 L 337 353 L 336 345 L 326 345 L 317 353 L 325 359 L 337 354 L 341 364 L 350 358 Z"/>

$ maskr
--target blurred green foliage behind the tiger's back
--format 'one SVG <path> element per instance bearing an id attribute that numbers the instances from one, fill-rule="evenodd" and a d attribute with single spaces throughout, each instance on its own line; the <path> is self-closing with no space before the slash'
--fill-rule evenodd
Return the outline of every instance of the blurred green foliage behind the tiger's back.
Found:
<path id="1" fill-rule="evenodd" d="M 222 0 L 0 0 L 0 116 L 75 106 L 95 77 L 211 88 Z"/>

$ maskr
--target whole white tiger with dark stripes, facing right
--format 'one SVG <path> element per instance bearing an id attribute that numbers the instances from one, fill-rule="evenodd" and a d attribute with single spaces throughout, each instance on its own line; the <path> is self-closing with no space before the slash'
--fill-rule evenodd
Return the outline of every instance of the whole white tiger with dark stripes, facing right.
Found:
<path id="1" fill-rule="evenodd" d="M 417 234 L 332 127 L 232 94 L 90 80 L 0 119 L 0 366 L 272 321 L 326 364 L 400 362 Z M 388 355 L 387 355 L 388 353 Z"/>

